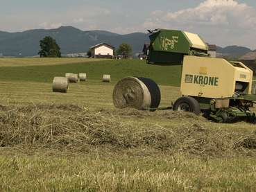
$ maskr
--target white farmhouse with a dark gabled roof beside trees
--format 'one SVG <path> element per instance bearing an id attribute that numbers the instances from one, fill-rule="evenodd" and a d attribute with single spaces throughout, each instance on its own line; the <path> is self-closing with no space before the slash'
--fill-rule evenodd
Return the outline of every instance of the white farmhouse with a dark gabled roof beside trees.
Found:
<path id="1" fill-rule="evenodd" d="M 101 43 L 91 46 L 92 58 L 113 58 L 114 57 L 114 46 L 110 44 Z"/>

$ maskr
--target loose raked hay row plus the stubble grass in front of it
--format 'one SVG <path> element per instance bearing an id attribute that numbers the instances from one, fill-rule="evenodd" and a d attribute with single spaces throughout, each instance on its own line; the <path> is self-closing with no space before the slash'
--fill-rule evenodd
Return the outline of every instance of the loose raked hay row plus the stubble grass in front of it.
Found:
<path id="1" fill-rule="evenodd" d="M 1 191 L 253 191 L 256 184 L 255 149 L 232 145 L 255 129 L 247 123 L 75 105 L 1 106 L 0 122 Z"/>

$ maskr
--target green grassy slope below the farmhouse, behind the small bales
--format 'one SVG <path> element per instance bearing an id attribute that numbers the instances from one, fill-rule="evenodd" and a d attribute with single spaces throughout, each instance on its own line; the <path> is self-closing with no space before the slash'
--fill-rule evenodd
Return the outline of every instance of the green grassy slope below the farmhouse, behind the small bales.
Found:
<path id="1" fill-rule="evenodd" d="M 79 60 L 79 59 L 64 59 L 56 60 L 42 60 L 40 58 L 31 59 L 28 61 L 31 65 L 27 66 L 26 60 L 20 62 L 19 66 L 26 67 L 13 67 L 12 61 L 16 60 L 0 60 L 0 80 L 27 80 L 37 82 L 51 82 L 54 76 L 65 76 L 65 73 L 87 73 L 89 80 L 101 80 L 104 73 L 112 75 L 112 80 L 117 80 L 126 76 L 143 76 L 152 78 L 161 85 L 174 85 L 180 84 L 181 67 L 180 66 L 155 66 L 146 64 L 141 60 Z M 97 61 L 97 62 L 95 62 Z M 65 64 L 65 62 L 67 64 Z M 71 64 L 70 64 L 71 63 Z M 73 64 L 72 64 L 73 63 Z M 75 64 L 74 64 L 75 63 Z M 42 64 L 42 65 L 41 65 Z M 61 64 L 61 65 L 60 65 Z"/>

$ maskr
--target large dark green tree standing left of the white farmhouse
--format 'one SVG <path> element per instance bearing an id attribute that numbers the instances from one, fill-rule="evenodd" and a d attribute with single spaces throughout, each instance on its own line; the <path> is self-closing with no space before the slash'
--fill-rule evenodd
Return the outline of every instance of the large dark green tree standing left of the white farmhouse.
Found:
<path id="1" fill-rule="evenodd" d="M 44 37 L 44 39 L 40 40 L 40 51 L 38 52 L 40 58 L 60 58 L 60 46 L 56 43 L 50 36 Z"/>

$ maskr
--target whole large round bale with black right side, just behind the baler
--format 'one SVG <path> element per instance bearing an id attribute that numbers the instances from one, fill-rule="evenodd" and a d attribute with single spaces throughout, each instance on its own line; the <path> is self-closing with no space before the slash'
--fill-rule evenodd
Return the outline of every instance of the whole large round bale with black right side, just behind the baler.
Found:
<path id="1" fill-rule="evenodd" d="M 132 107 L 137 110 L 156 108 L 161 101 L 160 89 L 148 78 L 127 77 L 117 82 L 113 91 L 114 106 L 123 109 Z"/>

